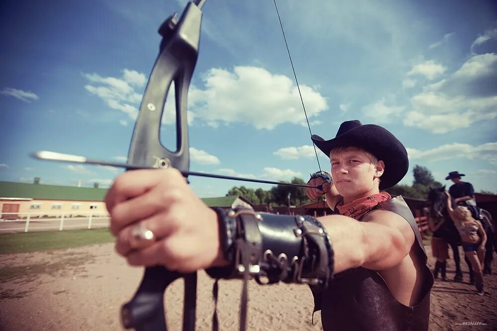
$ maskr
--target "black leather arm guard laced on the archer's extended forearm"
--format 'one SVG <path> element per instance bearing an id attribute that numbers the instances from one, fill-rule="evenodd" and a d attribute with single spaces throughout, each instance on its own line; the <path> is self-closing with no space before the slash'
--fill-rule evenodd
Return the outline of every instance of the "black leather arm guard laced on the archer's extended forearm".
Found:
<path id="1" fill-rule="evenodd" d="M 251 209 L 218 214 L 220 238 L 229 266 L 213 267 L 213 278 L 255 278 L 326 287 L 333 274 L 333 249 L 323 225 L 311 216 L 257 214 Z"/>

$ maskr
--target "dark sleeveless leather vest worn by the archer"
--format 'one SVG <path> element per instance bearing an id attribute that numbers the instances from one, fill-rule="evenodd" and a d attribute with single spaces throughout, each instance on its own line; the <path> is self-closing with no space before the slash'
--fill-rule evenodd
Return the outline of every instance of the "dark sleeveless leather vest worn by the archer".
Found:
<path id="1" fill-rule="evenodd" d="M 370 212 L 374 210 L 395 212 L 413 228 L 416 237 L 414 245 L 426 261 L 421 293 L 423 299 L 414 307 L 407 307 L 394 298 L 378 272 L 359 267 L 336 274 L 324 291 L 311 288 L 314 311 L 321 310 L 324 331 L 428 330 L 433 274 L 427 264 L 426 251 L 413 214 L 400 196 L 380 202 Z"/>

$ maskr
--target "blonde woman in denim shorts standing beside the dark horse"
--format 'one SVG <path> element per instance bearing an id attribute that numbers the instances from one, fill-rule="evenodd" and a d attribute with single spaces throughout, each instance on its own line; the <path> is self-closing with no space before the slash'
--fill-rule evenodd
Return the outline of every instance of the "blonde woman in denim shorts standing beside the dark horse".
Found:
<path id="1" fill-rule="evenodd" d="M 466 206 L 456 206 L 452 208 L 452 198 L 447 194 L 447 210 L 450 218 L 461 235 L 461 243 L 464 254 L 470 261 L 475 271 L 476 289 L 479 295 L 483 295 L 483 261 L 485 258 L 485 244 L 487 243 L 487 234 L 482 224 L 475 220 L 471 211 Z"/>

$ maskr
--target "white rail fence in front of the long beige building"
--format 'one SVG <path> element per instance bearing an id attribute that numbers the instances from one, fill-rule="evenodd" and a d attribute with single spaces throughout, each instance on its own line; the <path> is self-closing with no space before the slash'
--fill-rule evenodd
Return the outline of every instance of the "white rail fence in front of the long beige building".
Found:
<path id="1" fill-rule="evenodd" d="M 45 217 L 46 214 L 46 212 L 2 212 L 2 217 L 6 218 L 0 219 L 0 233 L 104 228 L 109 227 L 110 221 L 110 217 L 102 216 L 101 212 L 78 212 L 76 215 L 74 211 L 60 211 L 50 212 L 50 217 Z M 16 215 L 16 218 L 12 219 L 12 216 L 7 215 Z"/>

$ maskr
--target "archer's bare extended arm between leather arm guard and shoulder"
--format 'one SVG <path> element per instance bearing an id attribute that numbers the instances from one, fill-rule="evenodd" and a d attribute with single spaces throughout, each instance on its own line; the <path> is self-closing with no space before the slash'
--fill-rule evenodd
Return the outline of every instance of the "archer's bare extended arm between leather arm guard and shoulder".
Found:
<path id="1" fill-rule="evenodd" d="M 358 222 L 350 217 L 320 217 L 335 252 L 334 272 L 363 266 L 381 270 L 399 264 L 409 253 L 400 231 L 388 226 Z"/>

